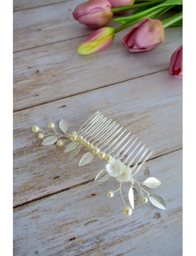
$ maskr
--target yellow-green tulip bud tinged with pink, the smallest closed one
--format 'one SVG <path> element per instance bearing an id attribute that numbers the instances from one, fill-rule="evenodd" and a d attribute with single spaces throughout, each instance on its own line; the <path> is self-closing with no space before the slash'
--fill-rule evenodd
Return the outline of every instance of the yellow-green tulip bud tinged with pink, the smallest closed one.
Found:
<path id="1" fill-rule="evenodd" d="M 115 30 L 112 27 L 102 27 L 86 37 L 78 47 L 77 52 L 89 55 L 108 47 L 115 37 Z"/>

